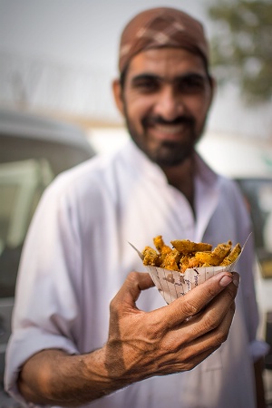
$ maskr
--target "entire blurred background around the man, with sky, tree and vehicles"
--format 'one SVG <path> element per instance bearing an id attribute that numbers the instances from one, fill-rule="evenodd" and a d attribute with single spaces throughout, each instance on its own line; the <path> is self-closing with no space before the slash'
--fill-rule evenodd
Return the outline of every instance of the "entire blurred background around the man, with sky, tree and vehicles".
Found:
<path id="1" fill-rule="evenodd" d="M 0 406 L 15 278 L 44 188 L 61 171 L 128 138 L 112 98 L 119 38 L 152 6 L 205 26 L 218 81 L 199 151 L 237 180 L 256 237 L 259 337 L 272 345 L 272 2 L 270 0 L 0 0 Z M 272 354 L 266 359 L 272 401 Z M 267 405 L 268 406 L 268 405 Z M 272 406 L 272 405 L 271 405 Z"/>

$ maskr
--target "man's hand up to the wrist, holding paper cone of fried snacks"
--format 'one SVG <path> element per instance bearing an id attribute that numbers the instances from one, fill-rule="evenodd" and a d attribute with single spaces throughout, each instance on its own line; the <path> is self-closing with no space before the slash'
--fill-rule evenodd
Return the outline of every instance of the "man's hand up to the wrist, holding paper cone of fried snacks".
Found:
<path id="1" fill-rule="evenodd" d="M 112 380 L 130 384 L 190 370 L 228 337 L 237 273 L 219 273 L 168 306 L 141 311 L 136 301 L 141 290 L 152 286 L 148 274 L 131 272 L 112 299 L 105 345 L 105 365 Z"/>

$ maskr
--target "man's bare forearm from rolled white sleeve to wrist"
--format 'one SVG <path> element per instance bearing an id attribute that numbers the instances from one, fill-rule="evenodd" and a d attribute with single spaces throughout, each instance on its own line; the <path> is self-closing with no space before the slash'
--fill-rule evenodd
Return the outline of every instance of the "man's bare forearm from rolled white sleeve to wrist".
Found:
<path id="1" fill-rule="evenodd" d="M 62 406 L 90 403 L 127 383 L 109 370 L 104 348 L 87 355 L 42 351 L 24 364 L 18 380 L 26 401 Z"/>

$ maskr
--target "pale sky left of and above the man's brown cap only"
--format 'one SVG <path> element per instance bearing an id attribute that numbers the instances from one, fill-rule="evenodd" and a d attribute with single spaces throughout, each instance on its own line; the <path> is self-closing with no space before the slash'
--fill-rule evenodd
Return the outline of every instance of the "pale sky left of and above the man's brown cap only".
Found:
<path id="1" fill-rule="evenodd" d="M 149 6 L 179 6 L 200 18 L 205 1 L 0 0 L 0 47 L 64 63 L 115 69 L 124 24 Z"/>

